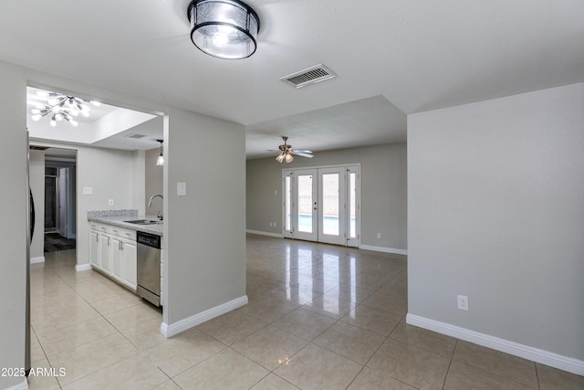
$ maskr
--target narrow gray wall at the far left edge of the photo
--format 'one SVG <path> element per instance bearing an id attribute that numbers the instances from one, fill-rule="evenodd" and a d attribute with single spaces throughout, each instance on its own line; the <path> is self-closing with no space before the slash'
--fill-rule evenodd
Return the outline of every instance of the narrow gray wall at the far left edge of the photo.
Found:
<path id="1" fill-rule="evenodd" d="M 25 365 L 26 293 L 26 79 L 22 69 L 0 62 L 0 367 Z M 24 377 L 0 376 L 0 388 L 25 383 Z"/>

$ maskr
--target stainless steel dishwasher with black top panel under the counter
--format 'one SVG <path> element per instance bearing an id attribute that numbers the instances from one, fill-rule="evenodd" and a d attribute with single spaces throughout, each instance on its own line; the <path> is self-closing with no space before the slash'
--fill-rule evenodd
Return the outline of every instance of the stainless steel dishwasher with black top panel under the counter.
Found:
<path id="1" fill-rule="evenodd" d="M 161 305 L 161 237 L 136 232 L 138 287 L 136 293 L 156 306 Z"/>

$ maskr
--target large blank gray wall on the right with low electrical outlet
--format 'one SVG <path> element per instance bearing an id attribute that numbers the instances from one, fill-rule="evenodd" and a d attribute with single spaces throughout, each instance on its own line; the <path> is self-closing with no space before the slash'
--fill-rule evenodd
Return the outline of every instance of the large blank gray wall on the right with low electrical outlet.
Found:
<path id="1" fill-rule="evenodd" d="M 583 107 L 577 84 L 408 117 L 409 314 L 584 359 Z"/>

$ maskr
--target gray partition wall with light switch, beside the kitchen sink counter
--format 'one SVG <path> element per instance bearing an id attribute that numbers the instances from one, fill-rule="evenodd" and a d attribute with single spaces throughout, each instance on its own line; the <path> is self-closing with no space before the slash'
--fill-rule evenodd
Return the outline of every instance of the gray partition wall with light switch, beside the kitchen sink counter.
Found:
<path id="1" fill-rule="evenodd" d="M 164 134 L 172 324 L 245 296 L 245 129 L 172 109 Z M 187 195 L 177 195 L 186 183 Z M 168 318 L 166 318 L 168 315 Z"/>

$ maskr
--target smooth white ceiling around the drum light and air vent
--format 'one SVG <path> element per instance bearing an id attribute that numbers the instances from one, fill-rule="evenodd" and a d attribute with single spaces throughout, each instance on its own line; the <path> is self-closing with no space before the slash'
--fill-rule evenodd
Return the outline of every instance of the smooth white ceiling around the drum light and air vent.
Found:
<path id="1" fill-rule="evenodd" d="M 581 0 L 247 0 L 258 48 L 235 61 L 193 46 L 188 3 L 3 0 L 0 59 L 243 123 L 250 157 L 279 135 L 403 140 L 412 112 L 584 81 Z M 319 63 L 339 76 L 279 80 Z"/>

